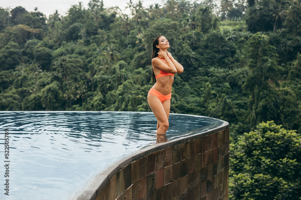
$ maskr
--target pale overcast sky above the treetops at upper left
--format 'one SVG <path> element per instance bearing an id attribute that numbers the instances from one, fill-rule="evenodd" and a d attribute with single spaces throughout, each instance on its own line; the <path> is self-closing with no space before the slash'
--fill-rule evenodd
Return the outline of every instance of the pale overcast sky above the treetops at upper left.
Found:
<path id="1" fill-rule="evenodd" d="M 78 2 L 81 1 L 83 7 L 88 7 L 88 3 L 90 0 L 1 0 L 0 7 L 2 8 L 11 8 L 14 9 L 15 7 L 22 6 L 27 11 L 34 11 L 35 7 L 38 7 L 37 11 L 40 11 L 41 13 L 45 14 L 47 17 L 50 14 L 55 13 L 55 10 L 58 11 L 59 14 L 65 16 L 69 8 L 74 5 L 78 4 Z M 129 2 L 129 0 L 103 0 L 104 1 L 104 7 L 115 7 L 118 6 L 121 10 L 125 10 L 125 7 L 127 6 L 126 3 Z M 139 0 L 132 0 L 133 3 L 137 3 Z M 166 2 L 165 0 L 145 0 L 141 1 L 144 7 L 149 7 L 151 4 L 159 3 L 163 4 Z M 129 9 L 125 10 L 125 12 L 129 14 Z"/>

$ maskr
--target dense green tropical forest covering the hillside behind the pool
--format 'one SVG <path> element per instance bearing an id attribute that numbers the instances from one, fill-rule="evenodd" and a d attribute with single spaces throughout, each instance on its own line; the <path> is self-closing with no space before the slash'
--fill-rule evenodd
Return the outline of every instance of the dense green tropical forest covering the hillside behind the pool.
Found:
<path id="1" fill-rule="evenodd" d="M 301 132 L 298 0 L 168 0 L 149 7 L 130 0 L 127 5 L 129 15 L 91 0 L 88 8 L 79 2 L 66 16 L 56 11 L 48 18 L 38 8 L 1 7 L 0 110 L 151 112 L 151 44 L 164 35 L 184 66 L 174 76 L 172 113 L 228 121 L 233 145 L 262 121 Z M 252 158 L 241 156 L 231 159 Z M 230 167 L 235 171 L 230 182 L 254 175 Z M 282 180 L 279 187 L 284 185 Z M 259 198 L 248 196 L 248 190 L 230 196 Z M 281 196 L 269 195 L 260 198 Z"/>

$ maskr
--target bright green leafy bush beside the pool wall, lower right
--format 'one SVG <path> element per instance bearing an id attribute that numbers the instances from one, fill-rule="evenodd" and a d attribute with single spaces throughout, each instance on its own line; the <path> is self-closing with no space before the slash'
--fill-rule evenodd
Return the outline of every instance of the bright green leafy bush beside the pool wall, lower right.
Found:
<path id="1" fill-rule="evenodd" d="M 274 121 L 230 144 L 229 199 L 300 199 L 301 138 Z"/>

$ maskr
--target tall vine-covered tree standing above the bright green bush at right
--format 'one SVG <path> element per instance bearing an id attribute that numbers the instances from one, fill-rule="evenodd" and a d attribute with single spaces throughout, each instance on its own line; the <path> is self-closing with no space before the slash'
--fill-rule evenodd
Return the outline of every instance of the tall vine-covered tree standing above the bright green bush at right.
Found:
<path id="1" fill-rule="evenodd" d="M 278 55 L 275 53 L 275 47 L 268 44 L 269 37 L 260 33 L 254 34 L 249 39 L 248 46 L 248 67 L 249 76 L 242 86 L 244 91 L 250 94 L 250 124 L 254 126 L 262 121 L 260 109 L 261 100 L 271 91 L 269 81 L 277 84 L 280 67 L 277 65 Z"/>

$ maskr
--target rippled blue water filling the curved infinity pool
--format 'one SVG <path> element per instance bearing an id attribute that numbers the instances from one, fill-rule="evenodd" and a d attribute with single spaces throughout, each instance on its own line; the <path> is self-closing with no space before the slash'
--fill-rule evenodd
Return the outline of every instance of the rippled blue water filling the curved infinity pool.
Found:
<path id="1" fill-rule="evenodd" d="M 221 124 L 170 114 L 166 136 L 170 141 Z M 0 131 L 8 128 L 10 133 L 6 199 L 68 199 L 110 162 L 155 144 L 156 127 L 153 113 L 145 112 L 0 112 Z M 3 174 L 1 165 L 0 183 Z"/>

